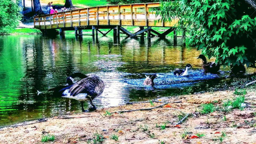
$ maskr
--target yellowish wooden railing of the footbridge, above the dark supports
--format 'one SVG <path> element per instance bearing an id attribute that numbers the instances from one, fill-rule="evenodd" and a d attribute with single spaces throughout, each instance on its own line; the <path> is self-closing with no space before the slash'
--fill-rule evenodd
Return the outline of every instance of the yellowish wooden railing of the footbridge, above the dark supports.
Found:
<path id="1" fill-rule="evenodd" d="M 158 21 L 160 17 L 155 17 L 155 11 L 149 11 L 151 7 L 159 7 L 159 3 L 98 6 L 35 16 L 34 27 L 56 29 L 88 25 L 174 26 L 176 21 Z"/>

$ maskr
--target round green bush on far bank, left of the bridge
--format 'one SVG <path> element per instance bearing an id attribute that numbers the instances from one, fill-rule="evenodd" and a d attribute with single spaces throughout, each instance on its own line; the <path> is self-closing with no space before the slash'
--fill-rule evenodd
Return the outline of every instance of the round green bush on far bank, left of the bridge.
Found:
<path id="1" fill-rule="evenodd" d="M 18 1 L 16 2 L 0 0 L 0 35 L 10 33 L 19 25 L 21 14 L 19 13 Z"/>

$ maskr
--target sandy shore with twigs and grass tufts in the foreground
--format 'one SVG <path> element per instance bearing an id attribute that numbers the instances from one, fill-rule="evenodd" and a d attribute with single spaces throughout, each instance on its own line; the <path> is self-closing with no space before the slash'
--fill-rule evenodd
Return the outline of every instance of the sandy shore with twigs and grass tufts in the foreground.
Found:
<path id="1" fill-rule="evenodd" d="M 1 143 L 41 143 L 43 134 L 55 135 L 55 140 L 48 143 L 93 143 L 96 131 L 104 136 L 102 143 L 256 143 L 256 95 L 255 90 L 248 90 L 245 95 L 247 106 L 243 110 L 234 109 L 228 113 L 213 112 L 201 115 L 202 103 L 235 98 L 233 91 L 217 91 L 195 95 L 183 95 L 177 98 L 162 98 L 150 103 L 134 103 L 100 109 L 91 113 L 79 113 L 48 118 L 45 122 L 26 126 L 7 127 L 0 130 Z M 177 102 L 178 103 L 172 103 Z M 216 103 L 218 101 L 218 103 Z M 152 110 L 113 113 L 104 116 L 106 111 L 152 108 L 168 102 L 168 105 Z M 180 126 L 177 116 L 191 114 Z M 223 120 L 224 115 L 226 120 Z M 66 118 L 66 119 L 63 119 Z M 158 126 L 166 124 L 161 130 Z M 175 127 L 176 126 L 176 127 Z M 145 130 L 146 127 L 146 130 Z M 144 129 L 144 130 L 143 130 Z M 186 137 L 182 134 L 186 131 Z M 193 138 L 201 133 L 205 136 Z M 221 136 L 225 133 L 225 137 Z M 118 141 L 111 135 L 118 135 Z M 150 137 L 151 136 L 151 137 Z M 191 139 L 193 138 L 193 139 Z M 222 141 L 222 142 L 221 142 Z"/>

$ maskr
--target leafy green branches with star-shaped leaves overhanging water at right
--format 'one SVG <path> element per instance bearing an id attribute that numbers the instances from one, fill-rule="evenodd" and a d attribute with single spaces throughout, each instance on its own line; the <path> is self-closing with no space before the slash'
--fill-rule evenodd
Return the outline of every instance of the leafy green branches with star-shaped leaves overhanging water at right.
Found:
<path id="1" fill-rule="evenodd" d="M 230 66 L 255 66 L 256 13 L 245 1 L 169 0 L 157 15 L 162 20 L 177 18 L 178 29 L 186 28 L 186 43 L 197 46 L 208 58 Z"/>

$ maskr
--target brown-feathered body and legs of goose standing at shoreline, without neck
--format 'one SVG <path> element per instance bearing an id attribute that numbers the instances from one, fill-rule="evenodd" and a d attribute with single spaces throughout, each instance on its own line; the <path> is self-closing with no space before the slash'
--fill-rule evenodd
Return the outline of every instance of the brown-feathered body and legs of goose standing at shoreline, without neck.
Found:
<path id="1" fill-rule="evenodd" d="M 59 92 L 64 98 L 72 98 L 81 102 L 82 112 L 94 111 L 96 106 L 93 104 L 93 99 L 102 94 L 105 88 L 103 80 L 97 74 L 86 74 L 85 78 L 72 85 L 69 85 Z M 89 101 L 91 106 L 88 110 L 83 108 L 83 103 Z"/>

